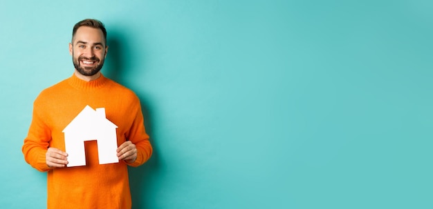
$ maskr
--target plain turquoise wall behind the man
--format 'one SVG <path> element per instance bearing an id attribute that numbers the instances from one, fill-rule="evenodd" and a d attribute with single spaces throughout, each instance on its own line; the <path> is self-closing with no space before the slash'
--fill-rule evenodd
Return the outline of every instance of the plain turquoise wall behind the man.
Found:
<path id="1" fill-rule="evenodd" d="M 433 2 L 1 1 L 0 206 L 45 208 L 33 100 L 100 19 L 154 156 L 133 208 L 433 208 Z"/>

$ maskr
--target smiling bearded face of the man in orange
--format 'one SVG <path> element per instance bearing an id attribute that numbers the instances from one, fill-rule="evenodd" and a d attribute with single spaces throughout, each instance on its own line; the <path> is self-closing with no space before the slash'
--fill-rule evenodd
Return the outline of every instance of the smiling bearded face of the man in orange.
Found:
<path id="1" fill-rule="evenodd" d="M 75 69 L 84 76 L 97 74 L 104 65 L 108 50 L 102 31 L 82 26 L 78 28 L 72 41 L 73 43 L 69 43 L 69 53 Z"/>

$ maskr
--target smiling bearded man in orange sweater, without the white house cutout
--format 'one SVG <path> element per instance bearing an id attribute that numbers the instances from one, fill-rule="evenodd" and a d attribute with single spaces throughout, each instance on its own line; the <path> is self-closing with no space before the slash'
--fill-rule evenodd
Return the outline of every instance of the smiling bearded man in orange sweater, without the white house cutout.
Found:
<path id="1" fill-rule="evenodd" d="M 107 51 L 100 21 L 75 24 L 69 43 L 72 77 L 43 90 L 33 104 L 22 151 L 27 163 L 48 172 L 48 208 L 131 208 L 127 166 L 140 166 L 151 156 L 138 97 L 100 72 Z M 62 131 L 86 106 L 105 108 L 118 126 L 118 163 L 99 164 L 98 144 L 86 141 L 86 166 L 67 166 Z"/>

